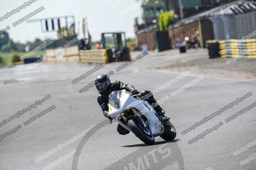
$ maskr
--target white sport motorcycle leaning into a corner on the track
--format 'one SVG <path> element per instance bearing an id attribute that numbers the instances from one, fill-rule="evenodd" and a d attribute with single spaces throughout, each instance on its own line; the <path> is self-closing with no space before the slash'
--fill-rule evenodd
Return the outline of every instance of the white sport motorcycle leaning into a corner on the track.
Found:
<path id="1" fill-rule="evenodd" d="M 140 99 L 140 94 L 114 91 L 109 94 L 108 100 L 108 115 L 145 144 L 154 144 L 158 136 L 166 141 L 176 137 L 176 129 L 170 118 L 161 119 L 148 101 Z"/>

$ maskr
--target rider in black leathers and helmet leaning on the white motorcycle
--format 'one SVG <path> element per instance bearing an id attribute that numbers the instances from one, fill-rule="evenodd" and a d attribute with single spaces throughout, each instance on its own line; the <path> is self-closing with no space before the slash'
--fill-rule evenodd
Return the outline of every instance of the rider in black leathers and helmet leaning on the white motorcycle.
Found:
<path id="1" fill-rule="evenodd" d="M 133 85 L 124 84 L 123 82 L 118 81 L 118 80 L 110 82 L 110 79 L 106 74 L 99 75 L 95 79 L 95 86 L 96 86 L 97 91 L 100 93 L 97 98 L 97 101 L 102 109 L 103 115 L 105 117 L 107 117 L 108 119 L 111 119 L 111 117 L 108 116 L 108 95 L 111 92 L 119 91 L 119 90 L 126 90 L 128 92 L 131 92 L 132 95 L 139 94 L 139 93 L 141 96 L 147 95 L 149 97 L 146 97 L 145 100 L 147 100 L 150 105 L 152 105 L 154 103 L 154 106 L 155 106 L 154 109 L 156 110 L 156 113 L 158 115 L 164 115 L 164 113 L 165 113 L 165 110 L 162 107 L 160 107 L 158 105 L 156 99 L 154 99 L 153 93 L 151 91 L 145 90 L 143 92 L 138 92 L 138 90 L 136 90 Z M 120 124 L 118 124 L 117 132 L 120 135 L 126 135 L 130 131 L 125 129 Z"/>

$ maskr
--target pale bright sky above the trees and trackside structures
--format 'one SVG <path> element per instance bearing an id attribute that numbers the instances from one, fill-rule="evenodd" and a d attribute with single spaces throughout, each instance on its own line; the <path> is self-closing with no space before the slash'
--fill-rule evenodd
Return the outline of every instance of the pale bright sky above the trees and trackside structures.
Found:
<path id="1" fill-rule="evenodd" d="M 28 1 L 30 0 L 1 0 L 0 17 Z M 10 30 L 8 30 L 9 36 L 13 41 L 21 43 L 34 41 L 36 38 L 45 40 L 46 38 L 57 36 L 57 31 L 43 33 L 40 22 L 25 21 L 13 27 L 12 23 L 41 6 L 44 6 L 44 10 L 29 19 L 74 15 L 77 24 L 79 21 L 82 21 L 82 18 L 90 18 L 88 28 L 89 31 L 91 30 L 92 41 L 100 40 L 102 32 L 125 31 L 126 37 L 134 37 L 134 18 L 141 15 L 140 4 L 136 4 L 135 0 L 37 0 L 25 9 L 21 9 L 20 12 L 16 12 L 9 18 L 1 21 L 0 30 L 10 26 Z M 130 6 L 133 7 L 127 13 L 120 13 Z M 64 23 L 62 22 L 62 24 Z M 82 33 L 81 30 L 80 33 Z"/>

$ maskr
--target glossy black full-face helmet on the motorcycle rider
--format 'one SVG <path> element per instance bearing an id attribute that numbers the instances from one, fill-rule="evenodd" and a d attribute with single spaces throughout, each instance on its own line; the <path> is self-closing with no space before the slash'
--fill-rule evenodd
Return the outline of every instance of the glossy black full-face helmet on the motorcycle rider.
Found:
<path id="1" fill-rule="evenodd" d="M 101 74 L 100 76 L 98 76 L 95 79 L 95 86 L 97 91 L 101 94 L 101 95 L 105 95 L 108 92 L 109 89 L 109 85 L 111 84 L 110 79 L 108 78 L 108 76 L 106 74 Z"/>

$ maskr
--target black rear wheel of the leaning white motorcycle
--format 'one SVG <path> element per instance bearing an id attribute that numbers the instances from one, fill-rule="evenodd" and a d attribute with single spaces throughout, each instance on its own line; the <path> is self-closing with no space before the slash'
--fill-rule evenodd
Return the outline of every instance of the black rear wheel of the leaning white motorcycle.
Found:
<path id="1" fill-rule="evenodd" d="M 170 121 L 164 122 L 163 125 L 164 133 L 160 137 L 166 141 L 173 140 L 176 137 L 176 129 Z"/>

